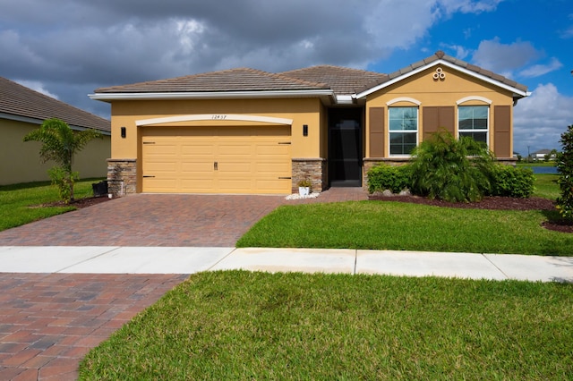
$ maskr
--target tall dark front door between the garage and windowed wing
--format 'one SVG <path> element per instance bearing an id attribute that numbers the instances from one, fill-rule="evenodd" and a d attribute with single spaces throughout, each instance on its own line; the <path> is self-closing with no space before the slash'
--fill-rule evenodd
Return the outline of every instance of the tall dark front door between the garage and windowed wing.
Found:
<path id="1" fill-rule="evenodd" d="M 361 108 L 329 110 L 329 181 L 332 187 L 362 186 Z"/>

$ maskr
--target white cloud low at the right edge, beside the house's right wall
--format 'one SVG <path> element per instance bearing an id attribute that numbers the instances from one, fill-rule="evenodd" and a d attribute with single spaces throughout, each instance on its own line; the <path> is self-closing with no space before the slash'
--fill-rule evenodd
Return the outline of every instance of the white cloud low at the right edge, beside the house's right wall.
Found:
<path id="1" fill-rule="evenodd" d="M 559 93 L 552 83 L 540 84 L 514 109 L 514 150 L 522 156 L 543 148 L 560 149 L 560 135 L 573 124 L 573 97 Z"/>

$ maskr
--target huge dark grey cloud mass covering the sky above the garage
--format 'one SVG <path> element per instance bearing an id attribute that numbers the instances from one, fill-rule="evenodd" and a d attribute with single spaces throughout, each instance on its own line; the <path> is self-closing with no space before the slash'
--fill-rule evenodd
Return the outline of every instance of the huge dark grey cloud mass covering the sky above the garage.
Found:
<path id="1" fill-rule="evenodd" d="M 50 83 L 61 99 L 87 109 L 93 102 L 85 94 L 98 87 L 196 72 L 320 63 L 365 69 L 455 13 L 491 12 L 500 0 L 224 3 L 0 0 L 0 74 Z M 72 89 L 81 91 L 73 97 Z"/>

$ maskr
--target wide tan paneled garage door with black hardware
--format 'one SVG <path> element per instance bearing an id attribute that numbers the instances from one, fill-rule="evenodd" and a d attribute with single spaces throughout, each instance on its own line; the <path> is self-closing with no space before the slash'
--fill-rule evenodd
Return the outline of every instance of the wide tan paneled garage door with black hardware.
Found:
<path id="1" fill-rule="evenodd" d="M 290 126 L 143 127 L 143 192 L 287 194 Z"/>

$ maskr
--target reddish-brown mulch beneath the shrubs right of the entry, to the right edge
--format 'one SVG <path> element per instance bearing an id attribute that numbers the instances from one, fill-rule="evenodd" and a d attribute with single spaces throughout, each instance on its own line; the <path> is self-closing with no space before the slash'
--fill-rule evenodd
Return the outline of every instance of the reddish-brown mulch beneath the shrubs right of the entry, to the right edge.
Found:
<path id="1" fill-rule="evenodd" d="M 529 199 L 513 199 L 510 197 L 485 197 L 477 202 L 447 202 L 438 199 L 426 199 L 419 196 L 383 196 L 370 195 L 368 199 L 380 201 L 410 202 L 431 205 L 435 207 L 459 207 L 491 210 L 546 210 L 555 211 L 555 203 L 551 199 L 532 197 Z M 561 233 L 573 233 L 573 224 L 560 219 L 550 219 L 543 222 L 545 229 Z"/>

